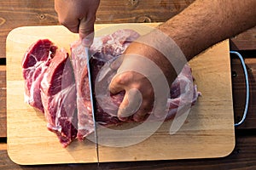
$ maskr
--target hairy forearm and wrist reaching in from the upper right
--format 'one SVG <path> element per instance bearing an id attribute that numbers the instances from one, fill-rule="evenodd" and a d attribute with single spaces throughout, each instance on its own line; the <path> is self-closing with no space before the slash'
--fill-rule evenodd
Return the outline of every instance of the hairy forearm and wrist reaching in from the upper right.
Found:
<path id="1" fill-rule="evenodd" d="M 151 31 L 131 43 L 125 54 L 139 54 L 151 59 L 163 71 L 171 87 L 187 60 L 213 44 L 255 26 L 255 6 L 256 0 L 197 0 L 159 26 L 160 31 Z M 184 56 L 172 55 L 172 51 L 179 52 L 180 49 Z"/>

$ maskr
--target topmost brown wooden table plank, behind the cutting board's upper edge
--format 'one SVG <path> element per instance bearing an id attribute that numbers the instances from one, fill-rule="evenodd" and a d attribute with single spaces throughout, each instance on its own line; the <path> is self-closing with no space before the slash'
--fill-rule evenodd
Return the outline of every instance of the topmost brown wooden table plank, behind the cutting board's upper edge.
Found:
<path id="1" fill-rule="evenodd" d="M 96 23 L 163 22 L 194 0 L 102 0 Z M 5 58 L 5 41 L 9 31 L 19 26 L 58 25 L 54 0 L 0 1 L 0 58 Z M 231 49 L 254 49 L 256 27 L 232 38 Z"/>

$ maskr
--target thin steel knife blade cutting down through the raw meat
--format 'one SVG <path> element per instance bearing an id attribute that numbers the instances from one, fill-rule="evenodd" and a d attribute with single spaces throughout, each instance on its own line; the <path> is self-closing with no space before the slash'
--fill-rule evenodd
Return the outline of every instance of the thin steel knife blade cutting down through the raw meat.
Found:
<path id="1" fill-rule="evenodd" d="M 96 115 L 95 115 L 95 108 L 94 108 L 94 102 L 93 102 L 93 93 L 92 93 L 92 79 L 91 79 L 91 73 L 90 73 L 90 49 L 88 47 L 85 47 L 85 55 L 87 57 L 87 70 L 88 70 L 88 78 L 89 78 L 89 87 L 90 87 L 90 104 L 91 104 L 91 113 L 94 123 L 94 138 L 95 138 L 95 144 L 96 144 L 96 156 L 97 156 L 97 163 L 99 165 L 99 147 L 98 147 L 98 135 L 97 135 L 97 125 L 96 125 Z"/>

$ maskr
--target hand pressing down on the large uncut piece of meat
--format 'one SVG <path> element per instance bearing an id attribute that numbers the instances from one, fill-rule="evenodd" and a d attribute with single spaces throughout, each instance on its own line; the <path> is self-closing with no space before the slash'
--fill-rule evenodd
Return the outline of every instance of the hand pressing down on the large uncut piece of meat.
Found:
<path id="1" fill-rule="evenodd" d="M 147 60 L 160 68 L 160 71 L 162 71 L 160 75 L 155 74 L 157 71 L 149 67 Z M 137 72 L 140 69 L 143 70 L 143 74 Z M 134 121 L 140 122 L 147 118 L 148 114 L 152 113 L 153 105 L 156 104 L 166 108 L 167 99 L 164 101 L 164 96 L 161 99 L 158 98 L 158 101 L 154 101 L 155 92 L 151 83 L 159 83 L 159 77 L 166 78 L 168 81 L 166 86 L 168 88 L 168 86 L 172 85 L 177 74 L 172 69 L 170 62 L 158 50 L 140 42 L 132 42 L 125 51 L 125 58 L 119 67 L 117 75 L 113 77 L 109 85 L 109 90 L 112 94 L 125 91 L 125 97 L 119 105 L 119 120 L 125 121 L 128 116 L 132 116 Z M 150 82 L 148 79 L 152 81 Z M 159 84 L 159 87 L 164 87 L 164 85 Z M 164 95 L 169 92 L 164 91 Z M 164 111 L 160 111 L 160 114 L 163 113 Z"/>

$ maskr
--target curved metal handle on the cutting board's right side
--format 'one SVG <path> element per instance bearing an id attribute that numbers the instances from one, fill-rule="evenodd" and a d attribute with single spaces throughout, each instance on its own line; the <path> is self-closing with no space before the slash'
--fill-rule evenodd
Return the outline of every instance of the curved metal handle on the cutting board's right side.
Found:
<path id="1" fill-rule="evenodd" d="M 246 82 L 246 93 L 247 93 L 247 95 L 246 95 L 246 103 L 245 103 L 245 107 L 244 107 L 244 111 L 243 111 L 243 116 L 242 116 L 240 122 L 235 122 L 235 127 L 237 127 L 237 126 L 241 125 L 245 121 L 245 119 L 247 117 L 247 110 L 248 110 L 249 97 L 250 97 L 249 96 L 249 94 L 250 94 L 249 93 L 249 80 L 248 80 L 247 67 L 245 65 L 245 62 L 244 62 L 241 54 L 239 54 L 236 51 L 230 51 L 230 54 L 235 54 L 240 59 L 241 65 L 242 65 L 242 68 L 243 68 L 243 71 L 244 71 L 245 82 Z"/>

